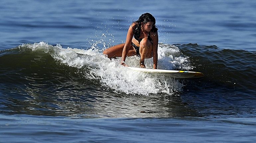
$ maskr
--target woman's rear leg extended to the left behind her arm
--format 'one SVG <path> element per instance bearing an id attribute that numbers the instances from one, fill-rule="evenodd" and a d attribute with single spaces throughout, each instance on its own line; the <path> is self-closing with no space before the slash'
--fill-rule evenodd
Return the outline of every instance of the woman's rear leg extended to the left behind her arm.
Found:
<path id="1" fill-rule="evenodd" d="M 103 54 L 107 55 L 108 58 L 122 57 L 123 49 L 124 49 L 124 43 L 107 48 L 106 50 L 103 51 Z M 135 55 L 136 55 L 135 49 L 133 48 L 133 46 L 130 46 L 127 56 L 130 57 Z"/>

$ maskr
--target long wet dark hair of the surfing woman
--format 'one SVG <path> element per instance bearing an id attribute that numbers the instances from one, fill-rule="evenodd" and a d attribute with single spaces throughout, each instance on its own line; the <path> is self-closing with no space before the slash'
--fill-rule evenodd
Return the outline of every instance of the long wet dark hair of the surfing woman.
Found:
<path id="1" fill-rule="evenodd" d="M 156 26 L 156 19 L 150 13 L 144 13 L 139 17 L 137 21 L 133 22 L 135 23 L 135 26 L 133 27 L 133 33 L 135 36 L 140 36 L 141 23 L 146 24 L 147 22 L 154 22 L 151 29 L 152 32 L 156 32 L 158 30 Z M 139 39 L 140 37 L 136 38 Z"/>

